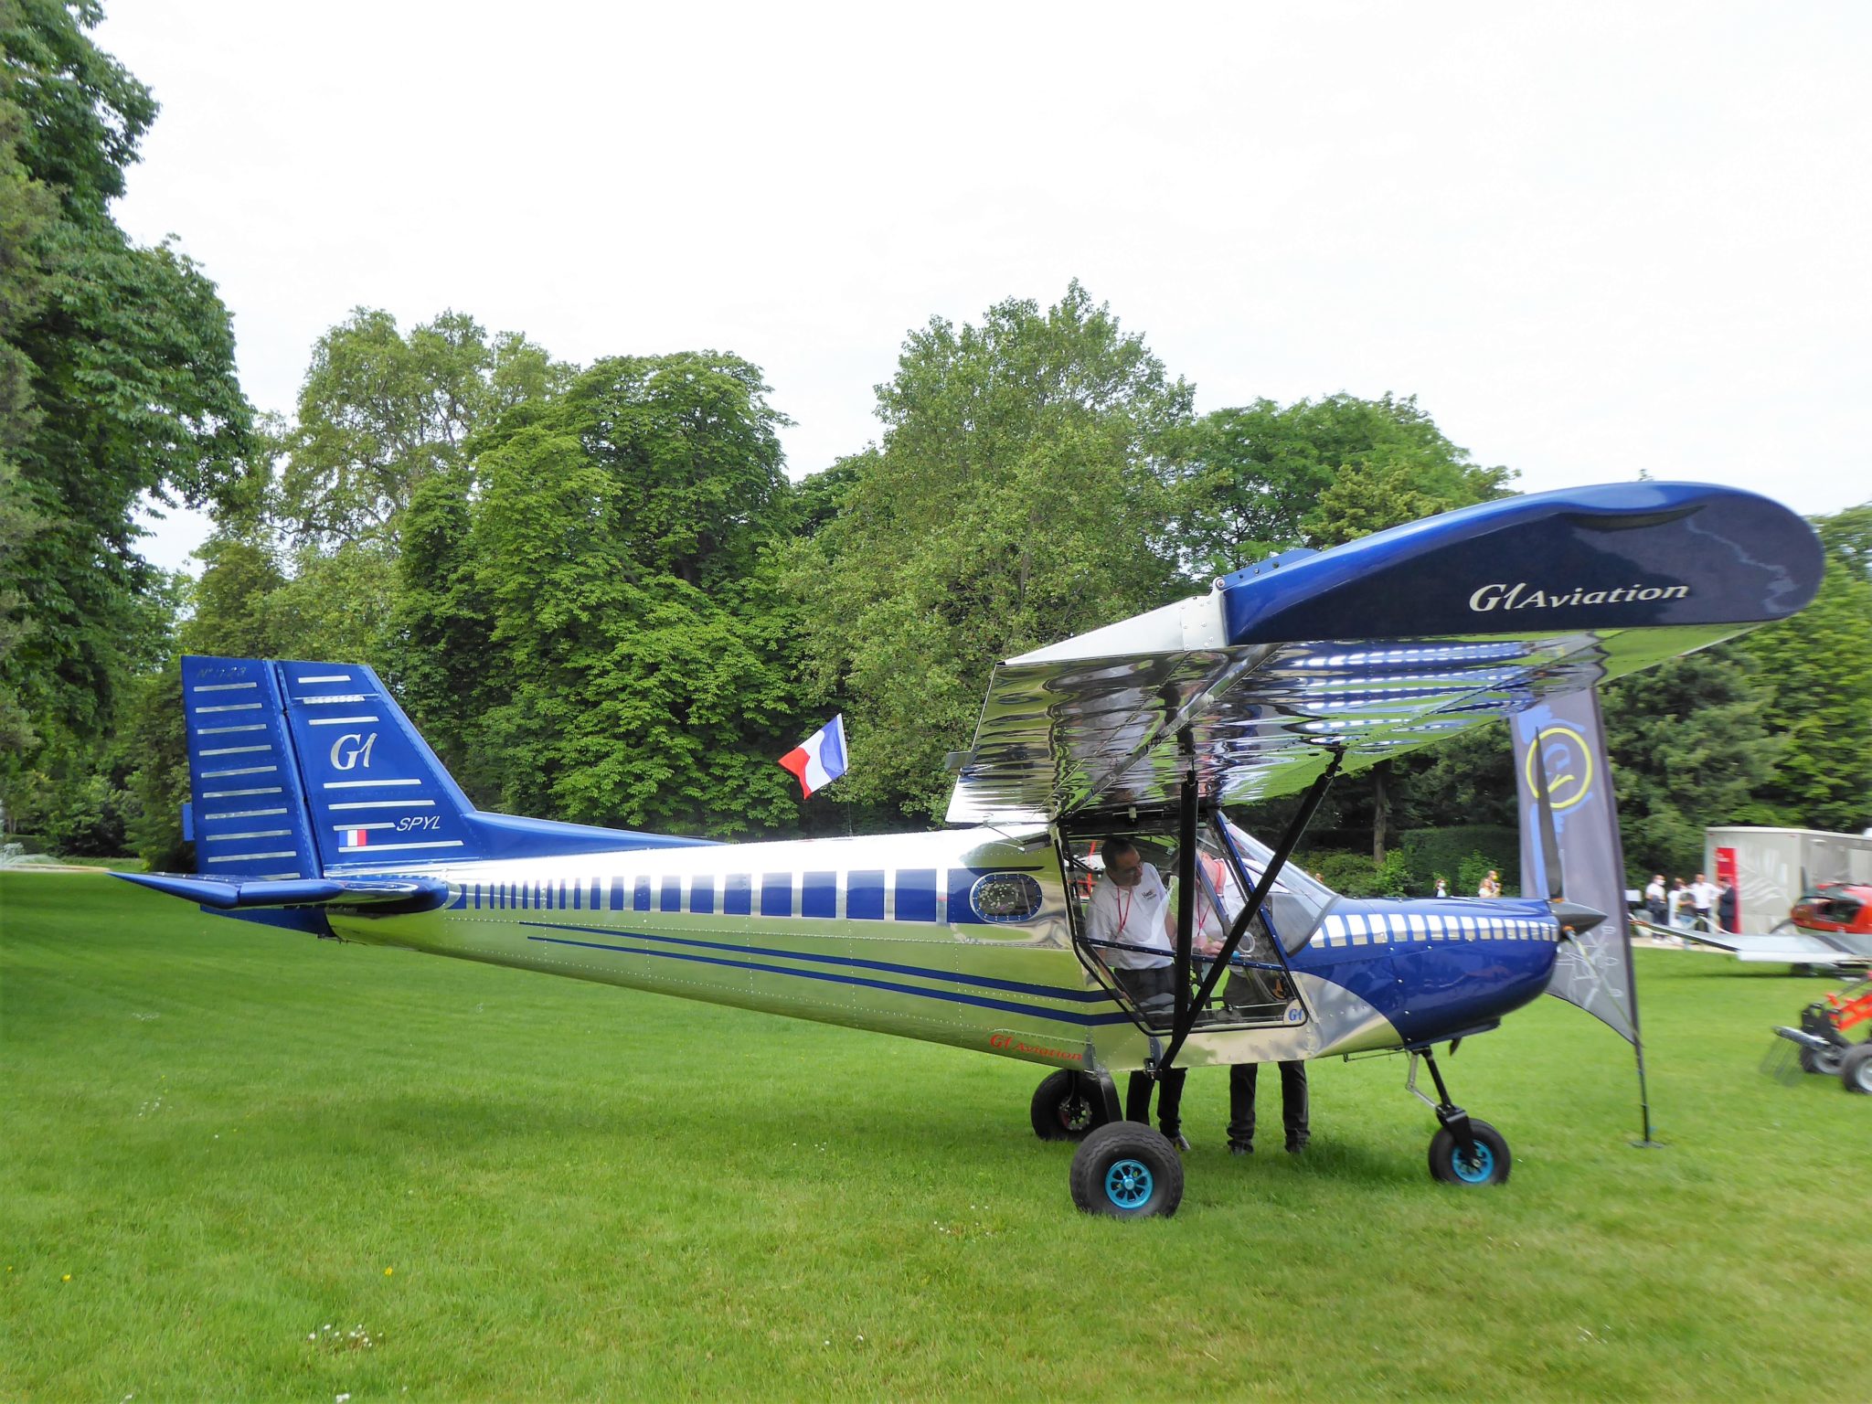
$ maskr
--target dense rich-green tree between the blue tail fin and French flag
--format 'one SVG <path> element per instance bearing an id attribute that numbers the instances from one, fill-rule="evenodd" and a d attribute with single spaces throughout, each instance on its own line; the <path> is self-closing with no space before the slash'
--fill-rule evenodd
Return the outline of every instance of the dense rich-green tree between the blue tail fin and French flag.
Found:
<path id="1" fill-rule="evenodd" d="M 786 419 L 766 393 L 732 356 L 616 358 L 477 442 L 489 653 L 468 739 L 505 803 L 721 835 L 796 818 L 773 758 L 797 698 L 764 565 Z M 459 504 L 423 509 L 432 535 Z M 425 554 L 425 586 L 462 599 L 451 552 Z M 434 603 L 414 618 L 446 629 Z"/>

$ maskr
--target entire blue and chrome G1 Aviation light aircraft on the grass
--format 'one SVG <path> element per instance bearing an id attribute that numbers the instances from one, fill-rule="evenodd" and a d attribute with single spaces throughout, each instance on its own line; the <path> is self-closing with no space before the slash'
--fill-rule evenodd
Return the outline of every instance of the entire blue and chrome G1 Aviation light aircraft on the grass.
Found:
<path id="1" fill-rule="evenodd" d="M 951 758 L 951 827 L 885 839 L 728 846 L 483 812 L 371 668 L 189 657 L 198 870 L 122 876 L 314 936 L 1039 1063 L 1033 1127 L 1078 1140 L 1093 1213 L 1168 1215 L 1183 1187 L 1172 1142 L 1119 1118 L 1114 1073 L 1367 1050 L 1410 1054 L 1432 1172 L 1496 1183 L 1507 1142 L 1451 1101 L 1432 1045 L 1535 1000 L 1599 914 L 1558 893 L 1348 900 L 1288 867 L 1307 820 L 1335 775 L 1788 618 L 1820 575 L 1799 517 L 1690 483 L 1288 552 L 998 665 Z M 1273 844 L 1226 818 L 1292 794 Z M 1118 837 L 1174 884 L 1174 996 L 1146 1005 L 1088 930 Z"/>

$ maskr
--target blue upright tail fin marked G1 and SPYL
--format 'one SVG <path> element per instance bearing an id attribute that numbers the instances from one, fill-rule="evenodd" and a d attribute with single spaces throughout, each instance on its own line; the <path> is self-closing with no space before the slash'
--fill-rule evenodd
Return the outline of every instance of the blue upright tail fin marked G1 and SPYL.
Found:
<path id="1" fill-rule="evenodd" d="M 185 657 L 202 878 L 356 870 L 706 842 L 477 811 L 373 668 Z"/>

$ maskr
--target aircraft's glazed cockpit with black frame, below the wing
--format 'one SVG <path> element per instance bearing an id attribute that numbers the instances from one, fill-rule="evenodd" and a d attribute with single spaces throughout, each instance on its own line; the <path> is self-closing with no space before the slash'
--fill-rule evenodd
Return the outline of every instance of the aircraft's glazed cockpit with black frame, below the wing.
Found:
<path id="1" fill-rule="evenodd" d="M 1211 966 L 1222 958 L 1249 893 L 1273 859 L 1271 850 L 1234 824 L 1226 824 L 1226 837 L 1217 822 L 1200 831 L 1189 990 L 1179 1000 L 1176 943 L 1181 893 L 1174 818 L 1151 822 L 1127 816 L 1121 824 L 1075 827 L 1061 839 L 1075 943 L 1082 958 L 1138 1022 L 1151 1031 L 1170 1030 L 1179 1003 L 1198 998 Z M 1329 887 L 1299 867 L 1284 867 L 1228 955 L 1228 968 L 1211 981 L 1192 1028 L 1305 1022 L 1305 1003 L 1286 958 L 1307 943 L 1335 900 Z"/>

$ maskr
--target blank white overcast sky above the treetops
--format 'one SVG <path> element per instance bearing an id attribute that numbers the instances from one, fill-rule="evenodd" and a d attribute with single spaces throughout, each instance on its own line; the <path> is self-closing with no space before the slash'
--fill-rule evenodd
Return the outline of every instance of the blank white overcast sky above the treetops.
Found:
<path id="1" fill-rule="evenodd" d="M 356 305 L 732 350 L 792 472 L 906 331 L 1078 277 L 1198 408 L 1415 393 L 1529 490 L 1872 496 L 1872 6 L 110 0 L 118 217 L 292 408 Z M 148 554 L 180 565 L 198 522 Z"/>

